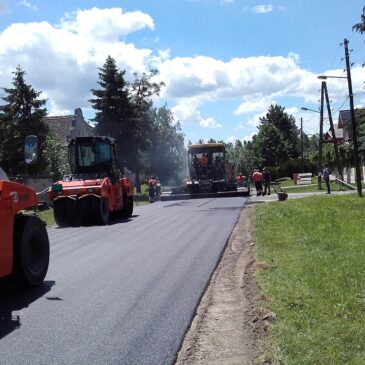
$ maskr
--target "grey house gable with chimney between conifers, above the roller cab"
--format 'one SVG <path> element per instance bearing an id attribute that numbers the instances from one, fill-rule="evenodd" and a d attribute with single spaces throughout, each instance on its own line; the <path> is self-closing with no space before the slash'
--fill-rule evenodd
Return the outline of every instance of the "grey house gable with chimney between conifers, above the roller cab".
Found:
<path id="1" fill-rule="evenodd" d="M 45 117 L 43 121 L 63 147 L 67 147 L 71 138 L 94 135 L 94 128 L 85 121 L 80 108 L 75 109 L 75 114 Z"/>

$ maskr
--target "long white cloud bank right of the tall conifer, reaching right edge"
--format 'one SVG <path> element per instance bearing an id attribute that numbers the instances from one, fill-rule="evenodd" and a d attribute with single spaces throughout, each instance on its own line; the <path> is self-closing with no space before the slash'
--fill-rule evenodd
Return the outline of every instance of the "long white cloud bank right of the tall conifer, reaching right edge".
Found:
<path id="1" fill-rule="evenodd" d="M 283 97 L 296 97 L 305 103 L 317 103 L 320 97 L 317 75 L 302 69 L 296 54 L 233 58 L 227 62 L 203 56 L 160 61 L 159 78 L 166 82 L 164 98 L 195 97 L 200 103 L 241 99 L 234 111 L 236 115 L 267 110 Z M 326 73 L 333 72 L 336 70 Z M 354 91 L 363 90 L 365 69 L 355 66 L 352 74 Z M 327 83 L 334 101 L 346 98 L 344 80 L 331 79 Z"/>

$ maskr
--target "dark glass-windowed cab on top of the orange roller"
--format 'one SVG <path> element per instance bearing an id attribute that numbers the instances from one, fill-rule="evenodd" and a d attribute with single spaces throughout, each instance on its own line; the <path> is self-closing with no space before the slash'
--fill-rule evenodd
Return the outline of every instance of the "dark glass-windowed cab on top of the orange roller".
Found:
<path id="1" fill-rule="evenodd" d="M 116 146 L 110 137 L 76 137 L 68 146 L 72 174 L 78 179 L 118 178 Z"/>

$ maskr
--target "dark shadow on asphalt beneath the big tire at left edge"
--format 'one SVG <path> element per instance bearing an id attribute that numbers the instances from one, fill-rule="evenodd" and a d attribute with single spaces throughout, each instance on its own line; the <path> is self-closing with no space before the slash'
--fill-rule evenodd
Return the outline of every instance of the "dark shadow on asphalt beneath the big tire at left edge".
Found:
<path id="1" fill-rule="evenodd" d="M 45 281 L 36 288 L 16 291 L 4 280 L 0 281 L 0 339 L 19 328 L 20 316 L 13 312 L 21 311 L 48 293 L 54 281 Z"/>

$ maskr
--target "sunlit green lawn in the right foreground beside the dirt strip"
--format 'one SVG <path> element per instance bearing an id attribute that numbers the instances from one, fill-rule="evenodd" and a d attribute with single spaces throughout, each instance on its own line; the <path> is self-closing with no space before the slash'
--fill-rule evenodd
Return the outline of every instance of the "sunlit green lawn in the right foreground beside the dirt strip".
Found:
<path id="1" fill-rule="evenodd" d="M 275 364 L 364 364 L 365 200 L 356 194 L 255 207 L 258 281 Z"/>

